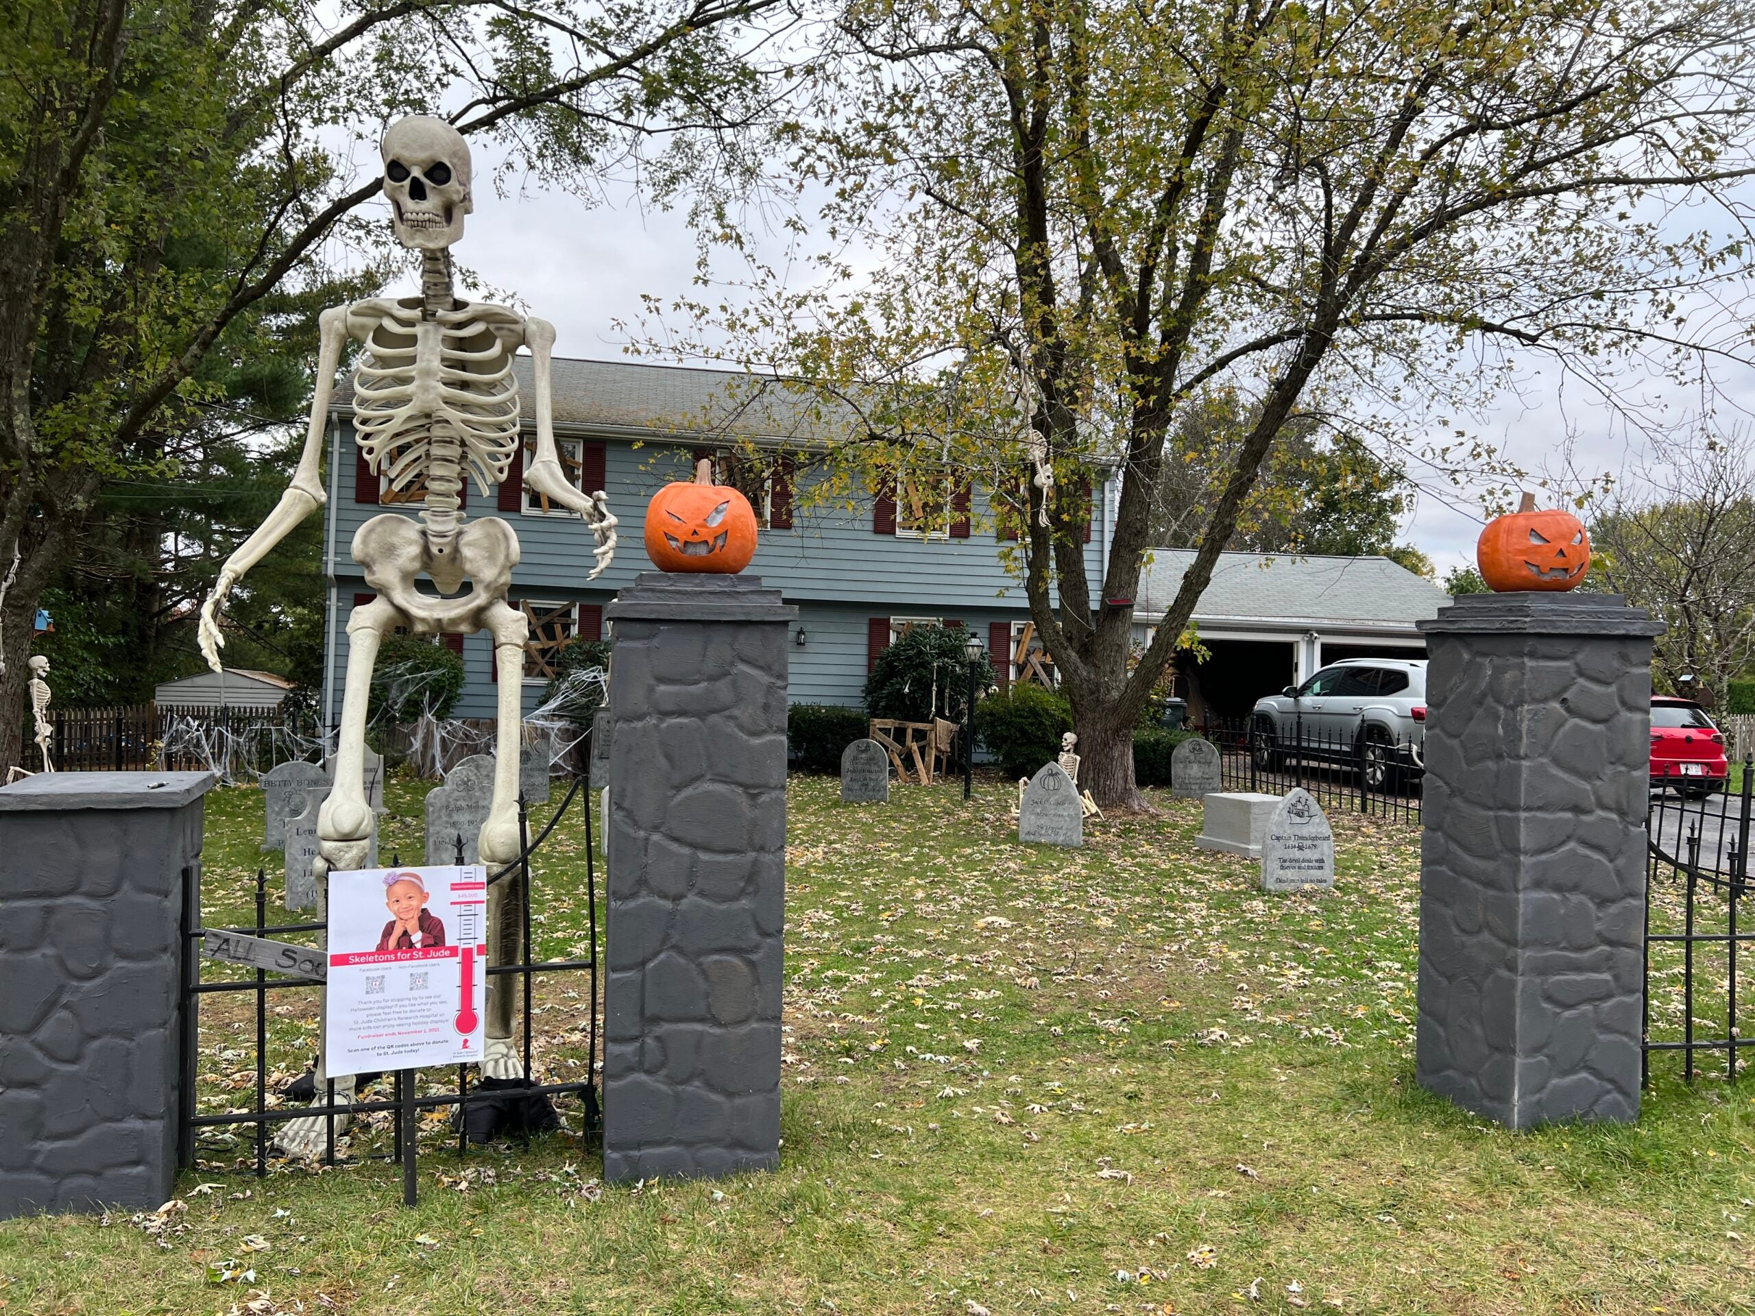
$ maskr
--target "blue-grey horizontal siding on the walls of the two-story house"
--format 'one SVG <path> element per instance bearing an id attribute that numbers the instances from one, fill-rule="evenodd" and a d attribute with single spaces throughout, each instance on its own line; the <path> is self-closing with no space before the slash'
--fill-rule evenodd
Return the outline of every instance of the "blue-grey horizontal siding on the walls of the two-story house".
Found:
<path id="1" fill-rule="evenodd" d="M 521 561 L 512 574 L 512 598 L 577 600 L 607 604 L 618 590 L 632 584 L 642 570 L 651 570 L 641 542 L 646 504 L 672 479 L 690 472 L 690 447 L 639 444 L 627 439 L 591 439 L 605 442 L 605 490 L 611 511 L 620 518 L 616 560 L 604 576 L 586 584 L 591 569 L 591 532 L 574 516 L 532 516 L 498 512 L 493 497 L 470 488 L 467 512 L 472 518 L 504 516 L 518 532 Z M 711 440 L 704 439 L 704 444 Z M 384 511 L 414 512 L 414 507 L 377 507 L 355 502 L 355 447 L 351 425 L 330 432 L 330 518 L 332 572 L 337 616 L 332 618 L 332 718 L 340 716 L 340 688 L 347 662 L 347 611 L 353 595 L 365 591 L 360 569 L 349 556 L 353 533 Z M 799 491 L 797 504 L 809 502 Z M 765 584 L 777 586 L 788 602 L 800 605 L 806 644 L 792 649 L 793 702 L 858 704 L 865 683 L 867 619 L 874 616 L 942 616 L 976 628 L 983 642 L 988 621 L 1028 618 L 1028 604 L 1018 581 L 1000 565 L 1000 546 L 992 526 L 981 528 L 988 512 L 986 490 L 974 490 L 976 532 L 969 539 L 920 540 L 872 532 L 872 500 L 858 500 L 855 509 L 795 507 L 792 530 L 763 530 L 749 572 Z M 1100 498 L 1097 500 L 1100 502 Z M 1086 570 L 1097 590 L 1100 539 L 1106 523 L 1099 519 L 1086 546 Z M 797 632 L 795 632 L 797 633 Z M 491 681 L 493 651 L 488 635 L 463 640 L 469 683 L 455 716 L 491 718 L 497 686 Z M 526 683 L 525 711 L 541 698 L 541 683 Z"/>

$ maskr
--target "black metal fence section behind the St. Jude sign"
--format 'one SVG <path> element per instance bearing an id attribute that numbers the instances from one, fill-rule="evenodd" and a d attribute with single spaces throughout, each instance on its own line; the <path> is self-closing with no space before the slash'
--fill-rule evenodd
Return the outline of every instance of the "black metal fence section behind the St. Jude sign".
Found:
<path id="1" fill-rule="evenodd" d="M 590 762 L 590 747 L 577 758 L 577 763 Z M 584 797 L 584 804 L 579 805 L 579 812 L 584 816 L 584 897 L 586 897 L 586 921 L 588 921 L 588 941 L 590 955 L 586 958 L 572 960 L 535 960 L 535 948 L 532 942 L 532 907 L 535 888 L 532 883 L 532 865 L 530 860 L 542 848 L 542 842 L 555 832 L 555 826 L 569 814 L 579 797 Z M 460 1155 L 469 1151 L 470 1142 L 470 1107 L 472 1104 L 479 1109 L 490 1102 L 516 1100 L 519 1104 L 528 1098 L 555 1098 L 555 1097 L 577 1097 L 581 1102 L 581 1114 L 584 1128 L 595 1128 L 598 1121 L 598 1100 L 597 1100 L 597 1051 L 598 1051 L 598 979 L 597 979 L 597 962 L 598 962 L 598 939 L 597 939 L 597 860 L 595 860 L 595 837 L 591 825 L 591 805 L 590 793 L 586 790 L 586 776 L 577 772 L 562 798 L 560 805 L 555 809 L 553 816 L 544 825 L 542 832 L 535 839 L 530 839 L 528 830 L 528 812 L 523 797 L 518 800 L 518 823 L 519 835 L 526 837 L 526 844 L 521 855 L 512 860 L 504 869 L 488 874 L 488 886 L 495 886 L 502 881 L 516 883 L 521 888 L 521 923 L 523 923 L 523 955 L 516 963 L 495 963 L 488 967 L 490 981 L 500 979 L 518 979 L 523 993 L 523 1023 L 521 1023 L 521 1058 L 523 1072 L 526 1079 L 535 1074 L 532 1065 L 532 984 L 537 976 L 546 974 L 574 974 L 583 972 L 590 976 L 588 988 L 588 1009 L 590 1023 L 586 1032 L 586 1051 L 584 1051 L 584 1076 L 562 1081 L 562 1083 L 534 1083 L 528 1081 L 516 1088 L 498 1088 L 491 1095 L 481 1090 L 477 1081 L 476 1088 L 470 1086 L 470 1067 L 458 1065 L 455 1076 L 455 1088 L 446 1093 L 419 1095 L 416 1083 L 416 1070 L 400 1070 L 391 1076 L 393 1091 L 388 1098 L 377 1100 L 337 1100 L 335 1083 L 328 1081 L 326 1091 L 323 1093 L 323 1102 L 318 1104 L 295 1104 L 291 1097 L 284 1104 L 269 1104 L 269 993 L 284 991 L 295 988 L 312 988 L 321 986 L 312 979 L 305 977 L 277 977 L 256 970 L 242 970 L 239 965 L 221 963 L 216 960 L 207 960 L 202 956 L 202 942 L 209 932 L 221 932 L 230 935 L 249 935 L 249 937 L 300 937 L 309 941 L 314 933 L 325 932 L 321 921 L 307 923 L 279 923 L 270 925 L 269 912 L 269 891 L 267 877 L 261 870 L 256 872 L 256 918 L 251 926 L 242 928 L 205 928 L 200 916 L 200 890 L 197 881 L 186 881 L 186 905 L 183 911 L 183 946 L 184 946 L 184 965 L 183 965 L 183 1039 L 181 1039 L 181 1063 L 183 1063 L 183 1093 L 184 1107 L 181 1111 L 177 1126 L 177 1156 L 183 1167 L 195 1163 L 195 1158 L 202 1153 L 207 1155 L 235 1155 L 235 1144 L 228 1148 L 204 1146 L 204 1130 L 216 1128 L 235 1128 L 247 1126 L 254 1130 L 254 1170 L 258 1176 L 267 1174 L 269 1165 L 269 1141 L 270 1128 L 286 1121 L 300 1119 L 305 1116 L 319 1116 L 328 1123 L 326 1146 L 323 1155 L 325 1165 L 335 1165 L 335 1118 L 349 1116 L 358 1118 L 365 1114 L 393 1112 L 395 1116 L 395 1144 L 390 1158 L 402 1165 L 404 1172 L 404 1202 L 414 1204 L 416 1197 L 416 1163 L 418 1163 L 418 1112 L 432 1109 L 455 1109 L 456 1125 L 456 1149 Z M 433 863 L 435 856 L 428 856 L 428 863 Z M 456 863 L 463 862 L 463 842 L 462 837 L 456 840 Z M 391 867 L 397 867 L 398 860 L 393 855 L 390 860 Z M 539 919 L 541 921 L 541 919 Z M 242 974 L 242 976 L 240 976 Z M 253 1081 L 247 1083 L 253 1095 L 247 1105 L 239 1105 L 219 1112 L 200 1112 L 197 1109 L 197 1081 L 198 1081 L 198 1060 L 202 1055 L 202 1018 L 200 1004 L 205 997 L 221 993 L 254 993 L 254 1074 Z M 233 1074 L 233 1079 L 237 1074 Z M 383 1076 L 381 1076 L 383 1077 Z M 312 1090 L 312 1098 L 316 1091 Z M 358 1097 L 358 1093 L 356 1093 Z"/>

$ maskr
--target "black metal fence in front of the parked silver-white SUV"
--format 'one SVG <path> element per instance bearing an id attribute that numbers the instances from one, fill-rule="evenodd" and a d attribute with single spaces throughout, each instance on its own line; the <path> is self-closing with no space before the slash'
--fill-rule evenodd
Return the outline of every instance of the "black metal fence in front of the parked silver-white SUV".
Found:
<path id="1" fill-rule="evenodd" d="M 1285 795 L 1307 790 L 1327 811 L 1420 821 L 1420 746 L 1386 730 L 1329 728 L 1304 718 L 1209 721 L 1199 728 L 1220 753 L 1225 790 Z"/>

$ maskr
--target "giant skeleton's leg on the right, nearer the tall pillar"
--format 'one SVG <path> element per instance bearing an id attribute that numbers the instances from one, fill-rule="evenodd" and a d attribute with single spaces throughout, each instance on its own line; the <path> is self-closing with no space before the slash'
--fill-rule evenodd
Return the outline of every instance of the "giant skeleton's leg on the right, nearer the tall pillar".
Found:
<path id="1" fill-rule="evenodd" d="M 495 737 L 493 804 L 481 825 L 481 862 L 491 876 L 495 869 L 518 858 L 523 835 L 518 825 L 518 749 L 523 740 L 525 640 L 530 619 L 504 600 L 488 605 L 483 616 L 493 633 L 493 660 L 500 676 L 500 721 Z M 509 872 L 488 886 L 488 963 L 521 963 L 523 874 Z M 490 1079 L 521 1079 L 525 1065 L 512 1044 L 512 977 L 488 977 L 486 1042 L 481 1072 Z"/>

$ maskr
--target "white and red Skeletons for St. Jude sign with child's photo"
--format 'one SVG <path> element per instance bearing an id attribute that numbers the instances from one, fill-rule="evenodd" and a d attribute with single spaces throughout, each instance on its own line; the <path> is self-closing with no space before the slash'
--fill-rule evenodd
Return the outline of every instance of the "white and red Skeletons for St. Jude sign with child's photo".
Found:
<path id="1" fill-rule="evenodd" d="M 486 928 L 479 863 L 332 872 L 328 1072 L 479 1060 Z"/>

